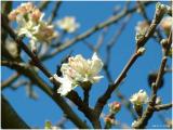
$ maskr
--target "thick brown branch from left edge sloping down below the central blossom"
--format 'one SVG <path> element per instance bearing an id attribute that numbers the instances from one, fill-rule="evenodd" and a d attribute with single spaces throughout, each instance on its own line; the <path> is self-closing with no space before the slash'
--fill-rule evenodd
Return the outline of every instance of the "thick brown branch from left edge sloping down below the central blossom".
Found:
<path id="1" fill-rule="evenodd" d="M 8 61 L 9 62 L 9 61 Z M 4 65 L 4 64 L 3 64 Z M 69 105 L 66 103 L 66 101 L 59 96 L 58 94 L 54 95 L 53 90 L 46 82 L 41 80 L 41 78 L 38 76 L 38 74 L 29 66 L 22 66 L 19 64 L 16 64 L 15 62 L 11 62 L 10 64 L 5 64 L 5 66 L 17 70 L 19 74 L 28 77 L 34 84 L 37 84 L 42 91 L 44 91 L 52 100 L 62 108 L 64 114 L 67 115 L 67 118 L 69 118 L 78 128 L 89 128 L 76 114 L 75 112 L 69 107 Z"/>

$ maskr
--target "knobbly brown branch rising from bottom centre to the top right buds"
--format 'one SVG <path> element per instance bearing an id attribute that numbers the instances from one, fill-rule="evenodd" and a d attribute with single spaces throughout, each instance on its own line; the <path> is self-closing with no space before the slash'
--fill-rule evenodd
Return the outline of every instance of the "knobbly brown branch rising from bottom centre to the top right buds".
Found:
<path id="1" fill-rule="evenodd" d="M 145 43 L 147 42 L 147 40 L 154 35 L 155 29 L 157 27 L 157 25 L 160 23 L 162 16 L 164 14 L 163 10 L 157 10 L 155 12 L 155 17 L 151 22 L 151 25 L 149 26 L 149 29 L 147 30 L 146 35 L 143 36 L 141 39 L 137 40 L 136 43 L 136 52 L 131 56 L 130 61 L 128 62 L 128 64 L 125 65 L 125 67 L 123 68 L 123 70 L 121 72 L 121 74 L 119 75 L 119 77 L 116 79 L 114 84 L 110 84 L 106 92 L 97 100 L 96 105 L 95 105 L 95 112 L 97 113 L 97 116 L 99 117 L 102 109 L 104 107 L 104 105 L 107 103 L 107 101 L 110 99 L 111 93 L 114 92 L 114 90 L 119 87 L 119 84 L 122 82 L 122 80 L 125 78 L 127 73 L 129 72 L 129 69 L 131 68 L 131 66 L 135 63 L 135 61 L 138 58 L 138 56 L 141 55 L 139 53 L 137 53 L 137 50 L 145 46 Z"/>

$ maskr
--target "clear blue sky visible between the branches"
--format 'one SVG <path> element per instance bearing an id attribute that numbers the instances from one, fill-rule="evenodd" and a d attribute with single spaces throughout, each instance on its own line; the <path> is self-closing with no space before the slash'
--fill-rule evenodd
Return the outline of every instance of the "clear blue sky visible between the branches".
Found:
<path id="1" fill-rule="evenodd" d="M 18 5 L 21 2 L 14 2 L 14 6 Z M 132 6 L 134 2 L 131 3 Z M 52 9 L 54 2 L 49 5 L 49 10 Z M 80 23 L 80 28 L 77 30 L 77 34 L 84 32 L 89 28 L 93 27 L 97 23 L 104 22 L 112 15 L 114 9 L 116 5 L 123 6 L 124 2 L 63 2 L 58 16 L 56 20 L 59 20 L 66 15 L 76 16 L 77 21 Z M 45 11 L 45 17 L 49 16 L 50 11 Z M 152 18 L 155 13 L 155 4 L 151 4 L 147 8 L 147 15 Z M 143 17 L 138 13 L 134 13 L 131 17 L 129 25 L 123 30 L 122 35 L 119 37 L 116 46 L 112 49 L 111 63 L 109 70 L 114 79 L 120 74 L 129 58 L 134 52 L 135 49 L 135 30 L 134 27 L 138 21 L 143 21 Z M 105 60 L 105 47 L 112 35 L 119 29 L 121 25 L 120 21 L 118 24 L 115 24 L 108 30 L 104 46 L 99 51 L 99 57 Z M 93 36 L 86 40 L 96 43 L 101 35 L 101 31 L 95 32 Z M 68 36 L 71 38 L 71 36 Z M 56 55 L 54 58 L 44 62 L 44 65 L 50 69 L 52 74 L 56 70 L 56 64 L 59 63 L 59 60 L 67 53 L 74 50 L 74 55 L 82 54 L 84 57 L 91 57 L 92 52 L 85 47 L 82 42 L 78 42 L 72 48 L 66 50 L 65 52 Z M 129 99 L 133 93 L 137 92 L 139 89 L 144 89 L 150 94 L 150 89 L 147 83 L 147 76 L 150 72 L 159 69 L 161 62 L 161 47 L 156 43 L 155 40 L 150 39 L 146 44 L 146 53 L 144 56 L 139 57 L 133 67 L 130 69 L 125 81 L 120 86 L 120 91 L 127 99 Z M 171 65 L 171 58 L 169 58 L 169 65 Z M 2 67 L 2 80 L 6 79 L 13 70 Z M 43 76 L 40 73 L 41 76 Z M 105 75 L 102 72 L 102 75 Z M 44 76 L 43 76 L 44 77 Z M 23 77 L 24 78 L 24 77 Z M 45 78 L 45 77 L 44 77 Z M 48 80 L 46 80 L 48 81 Z M 94 105 L 98 95 L 104 93 L 108 86 L 107 79 L 104 78 L 98 83 L 95 83 L 91 91 L 90 102 L 91 106 Z M 158 95 L 162 98 L 163 103 L 171 102 L 171 74 L 164 75 L 164 87 L 158 92 Z M 2 93 L 8 98 L 12 106 L 18 113 L 19 116 L 30 126 L 43 128 L 44 121 L 50 120 L 55 125 L 62 117 L 62 110 L 56 106 L 56 104 L 45 95 L 38 87 L 35 87 L 34 90 L 39 95 L 37 101 L 30 100 L 26 94 L 26 88 L 21 87 L 17 90 L 13 91 L 11 89 L 5 89 Z M 77 91 L 82 95 L 80 89 Z M 114 94 L 109 103 L 112 101 L 119 101 Z M 77 107 L 74 107 L 78 112 Z M 108 107 L 105 106 L 104 113 L 108 113 Z M 78 114 L 84 119 L 84 116 L 78 112 Z M 167 118 L 171 118 L 171 110 L 161 112 Z M 117 115 L 117 120 L 125 122 L 131 126 L 133 119 L 130 113 L 122 106 L 120 113 Z M 102 119 L 103 121 L 103 119 Z M 154 117 L 150 119 L 148 128 L 152 125 L 162 125 L 162 121 L 158 118 L 158 113 L 155 113 Z M 66 128 L 75 128 L 71 122 L 67 122 Z"/>

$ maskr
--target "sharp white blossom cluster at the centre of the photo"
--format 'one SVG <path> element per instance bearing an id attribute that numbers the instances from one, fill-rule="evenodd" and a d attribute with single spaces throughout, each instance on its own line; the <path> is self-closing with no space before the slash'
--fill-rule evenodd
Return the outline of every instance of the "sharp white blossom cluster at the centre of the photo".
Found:
<path id="1" fill-rule="evenodd" d="M 103 76 L 98 76 L 102 67 L 103 62 L 96 53 L 93 54 L 91 60 L 85 60 L 80 54 L 69 57 L 68 63 L 64 63 L 61 67 L 63 77 L 54 75 L 54 78 L 61 82 L 57 93 L 66 95 L 77 86 L 81 86 L 82 82 L 97 82 L 103 78 Z"/>

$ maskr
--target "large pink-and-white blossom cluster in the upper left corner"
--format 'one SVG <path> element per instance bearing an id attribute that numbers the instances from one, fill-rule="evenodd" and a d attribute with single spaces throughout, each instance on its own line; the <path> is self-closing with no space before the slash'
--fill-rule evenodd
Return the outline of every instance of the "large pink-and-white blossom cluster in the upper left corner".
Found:
<path id="1" fill-rule="evenodd" d="M 22 3 L 17 9 L 9 14 L 10 21 L 16 21 L 18 24 L 17 35 L 27 36 L 30 42 L 50 42 L 57 37 L 53 25 L 44 22 L 43 13 L 31 2 Z"/>

